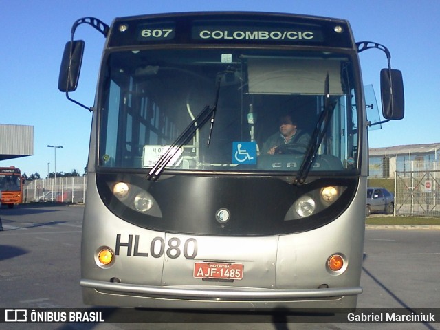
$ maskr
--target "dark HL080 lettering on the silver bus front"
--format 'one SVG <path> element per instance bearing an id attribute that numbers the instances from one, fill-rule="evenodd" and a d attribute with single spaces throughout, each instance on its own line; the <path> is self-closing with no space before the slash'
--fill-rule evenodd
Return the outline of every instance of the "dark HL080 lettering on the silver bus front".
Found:
<path id="1" fill-rule="evenodd" d="M 121 235 L 116 235 L 115 255 L 119 256 L 121 248 L 126 248 L 127 256 L 144 256 L 148 255 L 153 258 L 162 258 L 164 254 L 170 259 L 177 259 L 183 254 L 186 259 L 195 259 L 197 256 L 197 241 L 195 239 L 187 239 L 184 243 L 177 237 L 171 237 L 165 243 L 162 237 L 155 237 L 151 240 L 150 250 L 148 252 L 139 250 L 140 236 L 129 235 L 127 241 L 121 241 Z"/>

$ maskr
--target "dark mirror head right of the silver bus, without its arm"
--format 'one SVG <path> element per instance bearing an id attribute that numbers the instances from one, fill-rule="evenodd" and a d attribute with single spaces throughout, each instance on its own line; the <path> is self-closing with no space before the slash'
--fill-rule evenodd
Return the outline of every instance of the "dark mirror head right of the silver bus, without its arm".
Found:
<path id="1" fill-rule="evenodd" d="M 380 72 L 382 91 L 382 114 L 388 120 L 401 120 L 405 113 L 404 80 L 396 69 L 382 69 Z"/>

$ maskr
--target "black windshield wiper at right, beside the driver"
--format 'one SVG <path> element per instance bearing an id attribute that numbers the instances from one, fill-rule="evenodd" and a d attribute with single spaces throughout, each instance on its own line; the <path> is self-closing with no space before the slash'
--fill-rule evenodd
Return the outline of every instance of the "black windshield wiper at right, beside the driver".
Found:
<path id="1" fill-rule="evenodd" d="M 330 87 L 329 87 L 329 73 L 327 72 L 327 76 L 325 77 L 325 87 L 324 87 L 324 97 L 325 97 L 325 106 L 318 121 L 316 122 L 316 126 L 314 129 L 314 133 L 311 136 L 309 148 L 307 149 L 307 153 L 305 154 L 303 163 L 298 170 L 298 173 L 295 177 L 294 184 L 303 184 L 305 179 L 307 179 L 307 175 L 309 175 L 309 171 L 311 166 L 314 164 L 316 153 L 318 153 L 318 148 L 321 145 L 322 139 L 324 138 L 325 133 L 329 127 L 330 119 L 333 116 L 333 111 L 336 107 L 336 102 L 330 102 Z"/>

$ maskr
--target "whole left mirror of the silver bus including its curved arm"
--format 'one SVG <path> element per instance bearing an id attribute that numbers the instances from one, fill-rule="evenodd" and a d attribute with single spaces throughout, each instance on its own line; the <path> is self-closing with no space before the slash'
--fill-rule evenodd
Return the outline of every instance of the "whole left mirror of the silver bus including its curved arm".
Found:
<path id="1" fill-rule="evenodd" d="M 105 23 L 102 23 L 102 21 L 99 19 L 95 19 L 94 17 L 84 17 L 83 19 L 78 19 L 74 25 L 72 25 L 71 39 L 65 45 L 63 59 L 61 61 L 60 75 L 58 77 L 58 89 L 65 92 L 67 100 L 74 102 L 75 104 L 78 104 L 80 107 L 83 107 L 89 111 L 92 111 L 91 107 L 87 107 L 69 96 L 69 91 L 76 91 L 76 88 L 78 87 L 80 69 L 83 62 L 85 42 L 83 40 L 74 40 L 76 28 L 83 23 L 91 25 L 96 30 L 104 34 L 104 36 L 107 36 L 109 33 L 109 26 Z"/>

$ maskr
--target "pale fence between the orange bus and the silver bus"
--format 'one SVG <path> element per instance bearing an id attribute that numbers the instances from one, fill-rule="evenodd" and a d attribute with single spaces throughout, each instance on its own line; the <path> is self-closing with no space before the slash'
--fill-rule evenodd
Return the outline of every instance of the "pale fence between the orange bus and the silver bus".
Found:
<path id="1" fill-rule="evenodd" d="M 87 175 L 26 181 L 23 202 L 84 203 Z"/>

